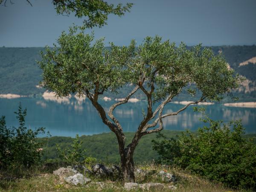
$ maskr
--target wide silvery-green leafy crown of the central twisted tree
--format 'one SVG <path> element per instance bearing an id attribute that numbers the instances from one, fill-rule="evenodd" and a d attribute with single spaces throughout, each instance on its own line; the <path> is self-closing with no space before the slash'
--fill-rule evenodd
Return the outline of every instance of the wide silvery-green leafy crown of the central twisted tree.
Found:
<path id="1" fill-rule="evenodd" d="M 60 47 L 46 47 L 39 61 L 43 70 L 43 84 L 57 96 L 77 93 L 79 96 L 93 94 L 96 85 L 98 93 L 117 92 L 127 84 L 138 84 L 144 79 L 147 89 L 155 88 L 154 101 L 173 97 L 190 84 L 201 91 L 202 99 L 220 100 L 224 93 L 230 93 L 243 80 L 221 55 L 214 55 L 201 45 L 186 49 L 185 44 L 175 47 L 162 38 L 146 37 L 135 49 L 132 40 L 128 47 L 111 43 L 110 50 L 104 49 L 103 39 L 70 27 L 69 34 L 63 32 L 58 38 Z"/>

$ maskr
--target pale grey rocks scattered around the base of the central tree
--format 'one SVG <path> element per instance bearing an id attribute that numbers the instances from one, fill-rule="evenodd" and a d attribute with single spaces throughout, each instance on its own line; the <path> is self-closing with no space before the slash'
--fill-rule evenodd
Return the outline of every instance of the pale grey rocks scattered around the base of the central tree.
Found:
<path id="1" fill-rule="evenodd" d="M 96 186 L 98 189 L 105 189 L 106 187 L 111 187 L 113 189 L 119 189 L 119 187 L 114 186 L 111 183 L 105 182 L 90 182 L 90 178 L 85 177 L 80 172 L 84 172 L 85 174 L 96 175 L 97 177 L 112 177 L 114 175 L 120 176 L 121 170 L 119 166 L 112 166 L 111 168 L 104 166 L 102 164 L 95 164 L 92 166 L 92 171 L 87 169 L 85 166 L 68 166 L 67 168 L 61 167 L 53 172 L 54 175 L 58 175 L 62 180 L 65 180 L 67 183 L 72 185 L 86 185 Z M 145 179 L 148 175 L 155 174 L 156 171 L 144 171 L 142 169 L 135 169 L 134 175 L 136 179 Z M 156 176 L 161 177 L 163 182 L 169 183 L 175 181 L 175 176 L 160 171 Z M 140 189 L 143 191 L 161 191 L 165 188 L 165 185 L 162 183 L 125 183 L 124 188 L 126 190 L 134 190 Z M 175 186 L 168 186 L 168 189 L 175 190 Z M 120 189 L 121 190 L 121 189 Z"/>

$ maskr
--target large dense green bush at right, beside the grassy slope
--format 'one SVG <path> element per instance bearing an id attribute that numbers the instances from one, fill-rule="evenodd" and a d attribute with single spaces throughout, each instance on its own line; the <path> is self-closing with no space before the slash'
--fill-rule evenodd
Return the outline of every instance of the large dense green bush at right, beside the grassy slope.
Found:
<path id="1" fill-rule="evenodd" d="M 152 140 L 159 161 L 180 166 L 209 180 L 222 182 L 233 188 L 256 189 L 256 145 L 244 139 L 240 121 L 224 124 L 206 117 L 197 134 L 190 131 L 167 140 L 163 134 Z M 233 126 L 233 130 L 230 127 Z"/>

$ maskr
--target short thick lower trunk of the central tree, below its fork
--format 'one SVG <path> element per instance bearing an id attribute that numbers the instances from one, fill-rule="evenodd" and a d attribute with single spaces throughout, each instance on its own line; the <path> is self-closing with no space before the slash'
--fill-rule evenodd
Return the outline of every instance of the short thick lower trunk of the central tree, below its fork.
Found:
<path id="1" fill-rule="evenodd" d="M 121 170 L 124 182 L 134 183 L 134 161 L 133 157 L 121 158 Z"/>

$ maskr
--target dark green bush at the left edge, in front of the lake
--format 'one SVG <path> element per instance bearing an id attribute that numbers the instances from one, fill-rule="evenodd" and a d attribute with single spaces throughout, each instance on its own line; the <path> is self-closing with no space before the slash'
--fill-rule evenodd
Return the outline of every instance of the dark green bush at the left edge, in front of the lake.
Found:
<path id="1" fill-rule="evenodd" d="M 0 167 L 17 169 L 38 165 L 43 156 L 42 145 L 49 133 L 44 140 L 38 142 L 37 137 L 39 134 L 45 134 L 45 128 L 36 128 L 35 131 L 26 128 L 26 109 L 22 110 L 21 104 L 15 114 L 20 125 L 18 128 L 7 128 L 5 116 L 0 119 Z"/>

